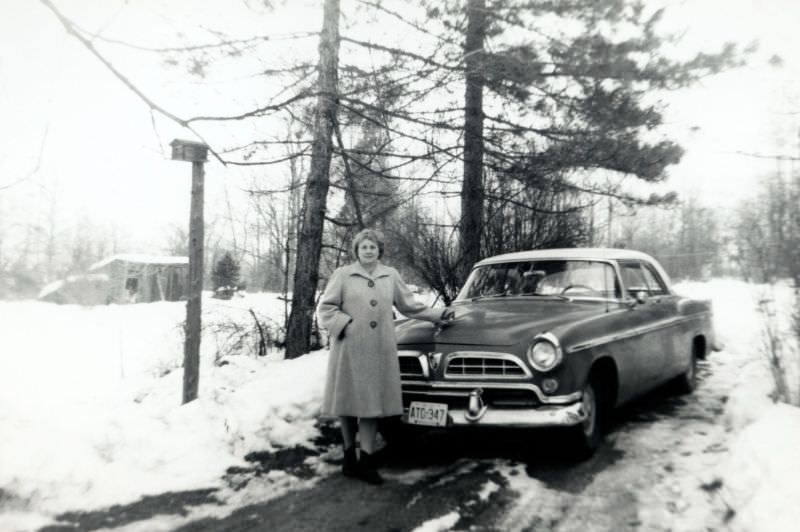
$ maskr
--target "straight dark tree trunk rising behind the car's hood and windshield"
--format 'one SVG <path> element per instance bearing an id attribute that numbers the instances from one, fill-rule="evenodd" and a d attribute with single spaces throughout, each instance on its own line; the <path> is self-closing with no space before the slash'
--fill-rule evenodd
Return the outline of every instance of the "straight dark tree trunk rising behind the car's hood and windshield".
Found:
<path id="1" fill-rule="evenodd" d="M 464 184 L 461 189 L 461 276 L 481 258 L 483 236 L 483 45 L 486 2 L 467 2 L 464 94 Z"/>

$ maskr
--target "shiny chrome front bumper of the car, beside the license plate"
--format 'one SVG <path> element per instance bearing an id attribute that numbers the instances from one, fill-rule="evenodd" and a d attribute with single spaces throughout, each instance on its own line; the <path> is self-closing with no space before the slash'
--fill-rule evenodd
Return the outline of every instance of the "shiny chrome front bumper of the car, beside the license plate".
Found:
<path id="1" fill-rule="evenodd" d="M 447 412 L 448 425 L 482 427 L 568 427 L 583 423 L 586 412 L 582 403 L 530 409 L 485 408 L 476 416 L 460 408 Z M 403 421 L 408 420 L 408 412 Z"/>

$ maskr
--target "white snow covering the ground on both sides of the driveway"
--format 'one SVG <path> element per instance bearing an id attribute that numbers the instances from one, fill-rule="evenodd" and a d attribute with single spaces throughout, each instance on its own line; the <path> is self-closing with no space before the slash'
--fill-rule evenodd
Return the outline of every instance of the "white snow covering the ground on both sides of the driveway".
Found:
<path id="1" fill-rule="evenodd" d="M 638 526 L 653 529 L 649 525 L 668 519 L 673 530 L 705 529 L 706 507 L 664 501 L 668 491 L 690 497 L 698 486 L 706 486 L 730 510 L 727 527 L 794 530 L 800 520 L 800 409 L 774 405 L 768 398 L 772 386 L 759 355 L 762 320 L 755 310 L 765 289 L 717 280 L 683 284 L 679 290 L 713 299 L 725 343 L 706 368 L 697 411 L 687 416 L 700 418 L 708 409 L 721 408 L 725 424 L 713 430 L 698 425 L 688 439 L 685 431 L 672 433 L 669 424 L 612 436 L 663 473 L 659 486 L 665 497 L 651 490 L 655 495 L 644 501 L 648 511 L 637 516 Z M 777 301 L 775 322 L 783 326 L 791 291 L 783 287 L 770 295 Z M 279 351 L 256 356 L 252 342 L 235 345 L 243 332 L 255 337 L 251 308 L 268 321 L 283 318 L 283 302 L 274 295 L 205 300 L 200 399 L 180 406 L 182 303 L 77 307 L 0 302 L 0 530 L 32 530 L 68 510 L 208 487 L 219 487 L 218 498 L 226 504 L 198 511 L 230 512 L 314 483 L 314 478 L 273 472 L 245 493 L 221 482 L 230 467 L 246 465 L 248 453 L 311 446 L 319 435 L 316 416 L 327 353 L 284 361 Z M 797 363 L 787 368 L 797 370 Z M 708 391 L 720 389 L 730 391 L 724 404 Z M 691 427 L 691 419 L 688 423 Z M 723 436 L 730 445 L 716 443 Z M 655 442 L 669 438 L 685 460 L 658 462 Z M 308 462 L 323 475 L 332 467 L 316 457 Z M 546 486 L 533 485 L 537 481 L 516 474 L 515 467 L 499 465 L 497 472 L 512 487 L 520 484 L 520 492 L 535 494 L 521 501 L 519 512 L 530 514 L 535 508 L 546 518 L 563 506 L 562 493 L 548 498 Z M 615 469 L 598 475 L 596 482 L 610 485 L 620 477 L 651 481 L 636 479 L 637 474 Z M 485 496 L 496 489 L 487 481 Z M 598 501 L 574 502 L 575 515 L 603 515 Z M 514 529 L 519 518 L 512 508 L 504 529 Z M 448 530 L 457 521 L 457 514 L 445 512 L 421 529 Z M 594 524 L 614 528 L 613 523 L 608 528 Z M 170 522 L 161 527 L 170 529 Z"/>

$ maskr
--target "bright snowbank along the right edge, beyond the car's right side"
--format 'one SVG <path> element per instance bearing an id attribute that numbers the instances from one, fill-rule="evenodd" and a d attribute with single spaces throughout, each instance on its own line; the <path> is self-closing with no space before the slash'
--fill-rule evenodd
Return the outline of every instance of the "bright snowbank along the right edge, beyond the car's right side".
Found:
<path id="1" fill-rule="evenodd" d="M 798 382 L 790 316 L 794 290 L 788 284 L 749 285 L 736 280 L 683 283 L 682 293 L 714 301 L 717 332 L 725 349 L 715 356 L 742 360 L 732 373 L 724 421 L 734 434 L 718 478 L 729 509 L 726 526 L 741 532 L 794 531 L 800 523 L 800 408 L 774 403 L 774 383 L 763 352 L 768 324 L 788 350 L 791 382 Z M 769 311 L 759 311 L 759 303 Z M 765 319 L 769 321 L 765 321 Z M 795 349 L 794 351 L 792 351 Z"/>

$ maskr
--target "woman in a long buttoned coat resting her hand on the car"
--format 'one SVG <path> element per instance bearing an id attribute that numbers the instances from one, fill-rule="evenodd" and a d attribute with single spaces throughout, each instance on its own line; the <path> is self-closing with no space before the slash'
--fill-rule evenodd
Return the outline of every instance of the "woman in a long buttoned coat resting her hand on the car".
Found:
<path id="1" fill-rule="evenodd" d="M 373 458 L 378 419 L 403 413 L 392 306 L 442 325 L 455 317 L 451 309 L 442 312 L 416 302 L 397 270 L 381 264 L 383 248 L 380 233 L 359 232 L 352 245 L 356 262 L 333 272 L 317 308 L 331 347 L 322 415 L 340 419 L 342 473 L 371 484 L 383 482 Z"/>

